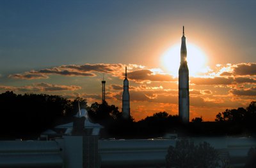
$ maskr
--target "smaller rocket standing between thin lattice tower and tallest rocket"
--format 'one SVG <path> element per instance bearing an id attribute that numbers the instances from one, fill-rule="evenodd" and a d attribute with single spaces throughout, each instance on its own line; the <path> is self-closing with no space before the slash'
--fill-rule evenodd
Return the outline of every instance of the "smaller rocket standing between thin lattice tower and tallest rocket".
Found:
<path id="1" fill-rule="evenodd" d="M 127 80 L 127 67 L 125 67 L 124 92 L 122 97 L 122 115 L 126 119 L 130 117 L 130 95 L 129 81 Z"/>

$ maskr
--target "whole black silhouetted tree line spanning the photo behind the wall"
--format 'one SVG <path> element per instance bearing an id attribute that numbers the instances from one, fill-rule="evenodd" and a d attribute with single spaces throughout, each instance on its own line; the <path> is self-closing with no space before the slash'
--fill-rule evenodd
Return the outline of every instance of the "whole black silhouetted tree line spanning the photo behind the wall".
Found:
<path id="1" fill-rule="evenodd" d="M 36 137 L 46 129 L 72 122 L 78 109 L 86 109 L 92 122 L 104 126 L 102 137 L 150 138 L 163 137 L 164 134 L 184 135 L 226 135 L 255 133 L 256 102 L 247 108 L 226 109 L 216 115 L 215 122 L 203 122 L 202 117 L 193 118 L 183 125 L 179 116 L 169 115 L 165 111 L 154 113 L 138 122 L 132 116 L 125 120 L 114 104 L 108 102 L 93 103 L 88 106 L 86 99 L 74 100 L 59 95 L 15 94 L 7 91 L 0 94 L 0 130 L 1 139 Z"/>

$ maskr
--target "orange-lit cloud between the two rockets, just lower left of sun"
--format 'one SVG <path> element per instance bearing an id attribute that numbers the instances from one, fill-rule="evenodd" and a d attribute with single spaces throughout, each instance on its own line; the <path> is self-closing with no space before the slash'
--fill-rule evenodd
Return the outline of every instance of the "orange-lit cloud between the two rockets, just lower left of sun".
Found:
<path id="1" fill-rule="evenodd" d="M 157 74 L 150 69 L 129 72 L 129 79 L 135 81 L 176 81 L 170 74 Z"/>

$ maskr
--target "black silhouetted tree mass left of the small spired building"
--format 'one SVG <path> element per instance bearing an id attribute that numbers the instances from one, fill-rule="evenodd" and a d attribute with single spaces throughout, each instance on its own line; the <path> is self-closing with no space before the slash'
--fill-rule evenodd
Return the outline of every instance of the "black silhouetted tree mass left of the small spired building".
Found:
<path id="1" fill-rule="evenodd" d="M 9 91 L 0 94 L 1 137 L 37 137 L 45 129 L 70 121 L 77 112 L 77 101 L 82 107 L 87 106 L 82 98 L 70 101 L 59 95 L 17 95 Z"/>

